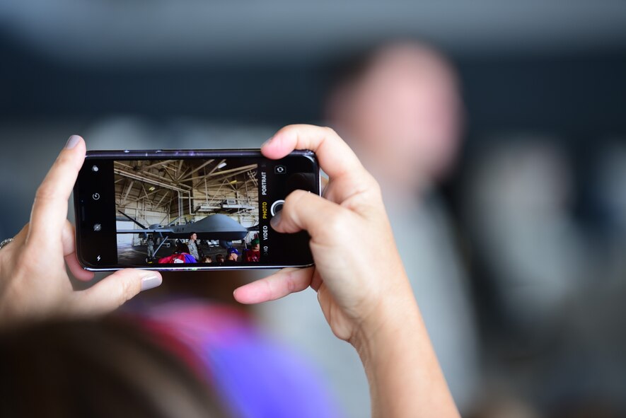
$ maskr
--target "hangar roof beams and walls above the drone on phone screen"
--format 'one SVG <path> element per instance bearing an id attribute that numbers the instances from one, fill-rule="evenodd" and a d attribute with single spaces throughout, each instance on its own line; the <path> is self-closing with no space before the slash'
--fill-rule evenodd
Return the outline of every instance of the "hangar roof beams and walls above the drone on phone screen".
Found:
<path id="1" fill-rule="evenodd" d="M 233 159 L 115 161 L 115 203 L 145 226 L 190 223 L 225 214 L 246 228 L 259 223 L 257 165 Z M 118 229 L 141 227 L 117 213 Z M 140 234 L 117 243 L 141 245 Z"/>

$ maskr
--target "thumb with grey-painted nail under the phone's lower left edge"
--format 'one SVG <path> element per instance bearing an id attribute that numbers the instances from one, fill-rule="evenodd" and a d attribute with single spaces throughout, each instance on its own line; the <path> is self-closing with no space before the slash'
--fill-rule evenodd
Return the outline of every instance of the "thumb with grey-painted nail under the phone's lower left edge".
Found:
<path id="1" fill-rule="evenodd" d="M 75 310 L 79 313 L 108 313 L 133 298 L 140 291 L 161 285 L 158 272 L 139 269 L 119 270 L 89 289 L 76 292 Z"/>

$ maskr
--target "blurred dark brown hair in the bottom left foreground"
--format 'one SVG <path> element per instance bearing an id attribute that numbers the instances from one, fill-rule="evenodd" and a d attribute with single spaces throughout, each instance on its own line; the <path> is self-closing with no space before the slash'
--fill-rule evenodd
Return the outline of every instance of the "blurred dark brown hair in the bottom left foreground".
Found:
<path id="1" fill-rule="evenodd" d="M 122 318 L 0 334 L 1 417 L 226 417 L 209 386 Z"/>

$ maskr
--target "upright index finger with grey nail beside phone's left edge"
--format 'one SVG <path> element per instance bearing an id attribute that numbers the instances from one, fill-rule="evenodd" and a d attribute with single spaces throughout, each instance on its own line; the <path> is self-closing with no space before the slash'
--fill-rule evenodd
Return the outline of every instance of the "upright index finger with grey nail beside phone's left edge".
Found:
<path id="1" fill-rule="evenodd" d="M 35 241 L 44 244 L 50 240 L 61 240 L 67 219 L 67 201 L 83 166 L 85 153 L 85 141 L 78 135 L 69 137 L 37 189 L 26 243 Z"/>

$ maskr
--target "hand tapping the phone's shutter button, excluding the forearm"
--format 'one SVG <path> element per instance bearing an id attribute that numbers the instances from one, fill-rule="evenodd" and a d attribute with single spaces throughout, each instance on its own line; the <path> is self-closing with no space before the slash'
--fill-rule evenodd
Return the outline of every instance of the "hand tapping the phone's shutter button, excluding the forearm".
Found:
<path id="1" fill-rule="evenodd" d="M 332 129 L 311 125 L 284 127 L 261 151 L 277 159 L 294 149 L 315 151 L 330 181 L 324 197 L 292 192 L 272 227 L 282 233 L 308 231 L 315 266 L 282 269 L 241 286 L 234 296 L 240 303 L 260 303 L 311 286 L 332 332 L 354 344 L 390 319 L 401 321 L 403 304 L 412 306 L 415 298 L 381 189 L 354 152 Z"/>

